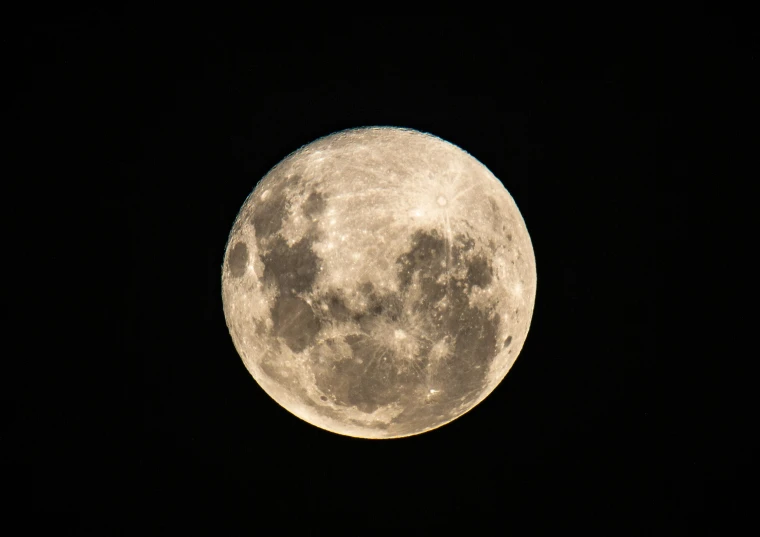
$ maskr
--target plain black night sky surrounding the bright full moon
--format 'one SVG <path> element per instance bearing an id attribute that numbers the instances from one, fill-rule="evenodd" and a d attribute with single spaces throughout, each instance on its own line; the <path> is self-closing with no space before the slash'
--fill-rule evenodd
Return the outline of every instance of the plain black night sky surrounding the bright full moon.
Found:
<path id="1" fill-rule="evenodd" d="M 695 198 L 718 196 L 704 176 L 749 147 L 731 128 L 755 60 L 738 18 L 290 15 L 9 19 L 21 300 L 4 509 L 98 535 L 738 524 L 747 394 L 737 366 L 693 345 L 719 334 L 695 322 L 712 291 L 681 264 L 717 255 Z M 479 159 L 517 202 L 538 269 L 507 378 L 402 440 L 290 415 L 245 370 L 222 312 L 227 234 L 256 182 L 365 125 Z"/>

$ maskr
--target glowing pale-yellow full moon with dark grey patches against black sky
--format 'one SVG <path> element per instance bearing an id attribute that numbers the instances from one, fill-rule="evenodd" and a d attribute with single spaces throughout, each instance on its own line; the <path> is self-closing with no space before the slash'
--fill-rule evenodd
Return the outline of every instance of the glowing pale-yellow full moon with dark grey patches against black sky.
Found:
<path id="1" fill-rule="evenodd" d="M 359 438 L 424 433 L 504 379 L 530 327 L 536 263 L 512 196 L 431 134 L 341 131 L 272 168 L 222 266 L 224 314 L 261 388 Z"/>

